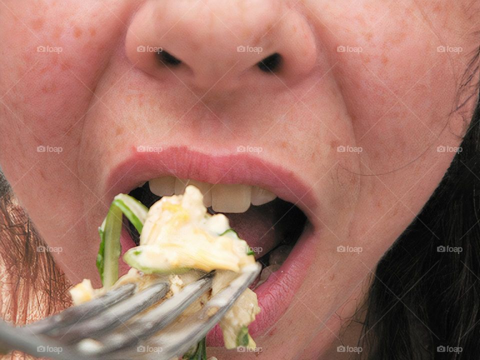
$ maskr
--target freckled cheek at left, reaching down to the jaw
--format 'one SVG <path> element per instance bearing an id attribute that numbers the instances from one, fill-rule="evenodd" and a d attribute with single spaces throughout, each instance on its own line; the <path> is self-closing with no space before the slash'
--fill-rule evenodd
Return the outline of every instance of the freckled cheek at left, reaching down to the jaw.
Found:
<path id="1" fill-rule="evenodd" d="M 78 144 L 129 9 L 122 1 L 6 2 L 16 16 L 0 3 L 0 164 L 42 235 L 55 239 L 82 213 L 82 197 L 95 199 L 74 173 Z M 62 214 L 54 228 L 52 214 Z"/>

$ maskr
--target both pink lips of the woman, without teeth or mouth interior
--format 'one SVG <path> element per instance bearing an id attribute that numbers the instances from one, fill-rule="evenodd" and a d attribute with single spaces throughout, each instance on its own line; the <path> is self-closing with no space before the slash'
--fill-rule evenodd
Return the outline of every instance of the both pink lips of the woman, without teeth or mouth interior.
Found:
<path id="1" fill-rule="evenodd" d="M 301 199 L 297 205 L 302 208 L 304 204 L 305 209 L 302 210 L 305 214 L 308 214 L 308 209 L 315 208 L 315 201 L 308 193 L 309 187 L 293 172 L 268 163 L 258 155 L 237 153 L 213 156 L 186 147 L 170 147 L 160 152 L 137 152 L 136 147 L 132 147 L 131 156 L 119 163 L 108 176 L 108 197 L 128 192 L 148 179 L 167 175 L 209 183 L 257 185 L 292 203 Z M 255 289 L 261 312 L 249 326 L 253 337 L 271 328 L 292 302 L 313 260 L 314 240 L 314 232 L 309 225 L 282 266 Z M 135 245 L 125 228 L 122 229 L 120 242 L 122 254 Z M 128 265 L 120 261 L 120 274 L 127 270 Z M 223 344 L 218 325 L 208 333 L 207 344 Z"/>

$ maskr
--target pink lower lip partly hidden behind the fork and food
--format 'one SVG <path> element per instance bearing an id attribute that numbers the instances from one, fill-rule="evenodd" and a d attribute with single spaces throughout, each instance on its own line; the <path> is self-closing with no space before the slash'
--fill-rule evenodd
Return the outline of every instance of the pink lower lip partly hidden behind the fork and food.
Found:
<path id="1" fill-rule="evenodd" d="M 256 315 L 255 321 L 248 326 L 253 338 L 272 329 L 287 310 L 313 261 L 315 239 L 315 233 L 308 223 L 285 262 L 264 283 L 255 288 L 261 311 Z M 120 244 L 122 256 L 129 248 L 135 246 L 125 226 L 122 226 Z M 130 266 L 122 260 L 122 256 L 119 262 L 120 275 L 130 269 Z M 223 335 L 218 324 L 208 332 L 206 340 L 207 346 L 223 346 Z"/>

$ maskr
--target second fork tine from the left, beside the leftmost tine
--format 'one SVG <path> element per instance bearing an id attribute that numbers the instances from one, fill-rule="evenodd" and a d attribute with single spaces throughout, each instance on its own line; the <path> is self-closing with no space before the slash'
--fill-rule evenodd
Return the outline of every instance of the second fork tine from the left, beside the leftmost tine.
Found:
<path id="1" fill-rule="evenodd" d="M 65 343 L 72 343 L 85 337 L 97 338 L 101 333 L 108 332 L 110 329 L 160 301 L 168 290 L 169 285 L 167 282 L 156 282 L 105 309 L 93 318 L 81 321 L 66 331 L 64 327 L 52 329 L 48 334 L 53 337 L 61 336 L 60 339 Z"/>

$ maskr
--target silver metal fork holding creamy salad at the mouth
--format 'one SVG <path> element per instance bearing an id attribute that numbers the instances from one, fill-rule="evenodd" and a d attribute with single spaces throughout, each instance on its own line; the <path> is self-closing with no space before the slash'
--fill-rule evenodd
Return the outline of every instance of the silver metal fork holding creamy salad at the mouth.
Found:
<path id="1" fill-rule="evenodd" d="M 245 266 L 200 310 L 176 322 L 188 305 L 211 288 L 214 270 L 159 305 L 168 283 L 157 282 L 136 293 L 136 284 L 126 283 L 26 326 L 12 327 L 0 320 L 0 348 L 62 360 L 169 360 L 202 339 L 260 270 L 259 263 Z"/>

